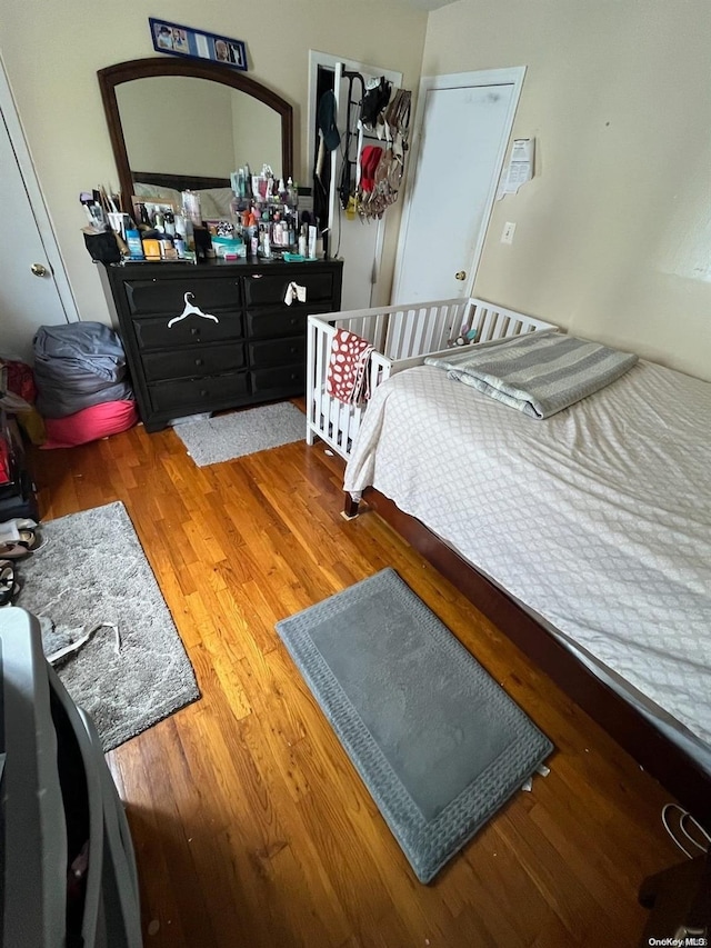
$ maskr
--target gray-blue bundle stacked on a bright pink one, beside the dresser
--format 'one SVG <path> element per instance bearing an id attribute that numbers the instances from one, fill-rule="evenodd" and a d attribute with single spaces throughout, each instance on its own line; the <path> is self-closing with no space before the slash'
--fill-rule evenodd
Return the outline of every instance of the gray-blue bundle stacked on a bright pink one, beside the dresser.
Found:
<path id="1" fill-rule="evenodd" d="M 101 322 L 41 326 L 34 337 L 43 448 L 83 445 L 138 421 L 121 340 Z"/>

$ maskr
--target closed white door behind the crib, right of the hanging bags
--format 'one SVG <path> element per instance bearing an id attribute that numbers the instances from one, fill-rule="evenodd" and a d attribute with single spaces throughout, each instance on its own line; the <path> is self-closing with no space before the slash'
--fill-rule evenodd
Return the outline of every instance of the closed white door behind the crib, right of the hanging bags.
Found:
<path id="1" fill-rule="evenodd" d="M 471 293 L 523 74 L 519 68 L 422 80 L 393 303 Z"/>

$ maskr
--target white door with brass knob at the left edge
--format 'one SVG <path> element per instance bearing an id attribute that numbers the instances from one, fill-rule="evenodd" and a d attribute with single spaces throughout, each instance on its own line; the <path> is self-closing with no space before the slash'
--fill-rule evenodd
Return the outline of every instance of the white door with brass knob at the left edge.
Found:
<path id="1" fill-rule="evenodd" d="M 78 317 L 1 64 L 0 207 L 0 356 L 31 362 L 38 327 Z"/>

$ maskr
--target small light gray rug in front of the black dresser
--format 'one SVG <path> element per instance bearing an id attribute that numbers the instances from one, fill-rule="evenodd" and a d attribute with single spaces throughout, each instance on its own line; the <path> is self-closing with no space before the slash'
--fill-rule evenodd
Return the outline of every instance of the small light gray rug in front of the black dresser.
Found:
<path id="1" fill-rule="evenodd" d="M 306 415 L 289 401 L 261 405 L 218 418 L 176 425 L 188 453 L 199 468 L 253 455 L 306 438 Z"/>

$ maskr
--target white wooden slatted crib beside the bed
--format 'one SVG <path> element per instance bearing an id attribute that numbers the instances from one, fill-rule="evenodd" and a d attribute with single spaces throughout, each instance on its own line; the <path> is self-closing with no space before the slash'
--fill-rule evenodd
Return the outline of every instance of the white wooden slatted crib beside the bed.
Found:
<path id="1" fill-rule="evenodd" d="M 420 366 L 425 356 L 447 351 L 459 336 L 474 345 L 550 329 L 552 323 L 473 297 L 356 309 L 310 316 L 307 337 L 307 442 L 317 437 L 348 459 L 368 405 L 344 405 L 326 380 L 337 329 L 348 329 L 375 347 L 370 359 L 370 392 L 389 376 Z"/>

